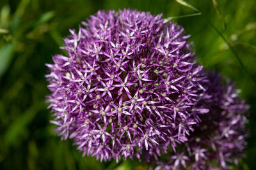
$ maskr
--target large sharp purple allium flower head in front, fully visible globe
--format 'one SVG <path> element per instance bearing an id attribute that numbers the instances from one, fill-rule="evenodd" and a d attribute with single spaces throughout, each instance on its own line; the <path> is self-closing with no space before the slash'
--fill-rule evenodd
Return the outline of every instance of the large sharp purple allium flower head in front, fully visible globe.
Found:
<path id="1" fill-rule="evenodd" d="M 162 15 L 98 11 L 47 64 L 47 101 L 63 139 L 100 160 L 149 159 L 187 141 L 204 92 L 184 29 Z"/>

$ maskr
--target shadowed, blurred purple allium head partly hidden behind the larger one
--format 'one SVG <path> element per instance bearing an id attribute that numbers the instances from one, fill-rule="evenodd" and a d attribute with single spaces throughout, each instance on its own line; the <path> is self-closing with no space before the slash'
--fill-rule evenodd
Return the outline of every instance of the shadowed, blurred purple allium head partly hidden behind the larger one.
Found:
<path id="1" fill-rule="evenodd" d="M 234 84 L 223 83 L 221 76 L 209 74 L 205 95 L 198 104 L 210 111 L 200 115 L 200 124 L 179 151 L 168 153 L 166 162 L 157 162 L 156 169 L 230 169 L 243 157 L 248 132 L 248 106 L 239 98 Z"/>

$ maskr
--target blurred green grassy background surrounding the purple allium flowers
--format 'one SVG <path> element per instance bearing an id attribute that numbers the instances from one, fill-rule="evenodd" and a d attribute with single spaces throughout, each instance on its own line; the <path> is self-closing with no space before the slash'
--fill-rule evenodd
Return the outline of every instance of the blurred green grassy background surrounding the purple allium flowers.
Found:
<path id="1" fill-rule="evenodd" d="M 191 0 L 196 13 L 173 0 L 1 0 L 0 1 L 0 169 L 145 169 L 138 162 L 99 162 L 82 157 L 72 141 L 60 141 L 49 123 L 44 75 L 51 56 L 63 53 L 68 29 L 97 10 L 132 8 L 163 13 L 185 27 L 207 69 L 236 81 L 250 104 L 246 158 L 234 169 L 256 167 L 256 3 L 255 0 Z M 217 4 L 216 4 L 217 3 Z M 211 25 L 211 24 L 212 25 Z M 226 25 L 226 26 L 225 26 Z M 228 44 L 221 38 L 220 34 Z M 230 49 L 230 47 L 232 49 Z M 234 54 L 236 53 L 236 55 Z M 238 62 L 241 59 L 244 66 Z M 249 74 L 250 75 L 249 75 Z"/>

